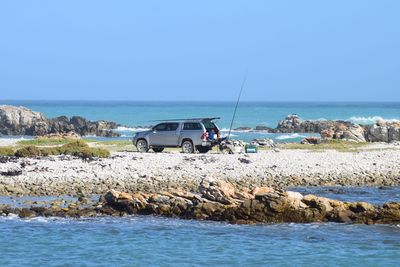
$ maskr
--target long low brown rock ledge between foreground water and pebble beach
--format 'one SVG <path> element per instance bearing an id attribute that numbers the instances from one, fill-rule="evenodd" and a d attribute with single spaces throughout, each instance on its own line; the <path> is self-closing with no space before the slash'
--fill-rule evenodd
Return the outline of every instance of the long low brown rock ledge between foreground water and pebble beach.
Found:
<path id="1" fill-rule="evenodd" d="M 110 190 L 90 207 L 0 207 L 0 214 L 34 216 L 157 215 L 182 219 L 225 221 L 235 224 L 338 222 L 361 224 L 400 223 L 400 203 L 374 206 L 343 202 L 292 191 L 255 187 L 238 190 L 225 181 L 203 180 L 199 194 L 173 189 L 159 193 L 125 193 Z"/>

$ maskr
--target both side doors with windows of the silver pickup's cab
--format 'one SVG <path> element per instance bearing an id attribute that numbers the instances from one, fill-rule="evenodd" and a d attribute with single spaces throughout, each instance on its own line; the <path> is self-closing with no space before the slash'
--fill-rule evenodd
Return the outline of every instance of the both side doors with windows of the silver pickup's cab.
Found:
<path id="1" fill-rule="evenodd" d="M 149 135 L 152 146 L 177 146 L 179 138 L 179 123 L 160 123 L 153 128 Z"/>

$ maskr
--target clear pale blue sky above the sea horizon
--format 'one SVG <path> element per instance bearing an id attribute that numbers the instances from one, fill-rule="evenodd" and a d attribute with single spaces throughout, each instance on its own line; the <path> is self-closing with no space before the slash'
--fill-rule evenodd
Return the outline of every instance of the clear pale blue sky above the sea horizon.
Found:
<path id="1" fill-rule="evenodd" d="M 0 1 L 0 99 L 399 101 L 400 1 Z"/>

